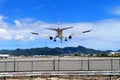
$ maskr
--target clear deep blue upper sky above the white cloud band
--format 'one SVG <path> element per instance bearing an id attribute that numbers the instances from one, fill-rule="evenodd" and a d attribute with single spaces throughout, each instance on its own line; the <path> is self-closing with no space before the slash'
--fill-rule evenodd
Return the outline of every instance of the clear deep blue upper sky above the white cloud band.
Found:
<path id="1" fill-rule="evenodd" d="M 28 17 L 46 22 L 56 22 L 61 14 L 63 22 L 91 22 L 112 18 L 108 10 L 119 4 L 118 0 L 1 0 L 0 13 L 10 19 Z"/>

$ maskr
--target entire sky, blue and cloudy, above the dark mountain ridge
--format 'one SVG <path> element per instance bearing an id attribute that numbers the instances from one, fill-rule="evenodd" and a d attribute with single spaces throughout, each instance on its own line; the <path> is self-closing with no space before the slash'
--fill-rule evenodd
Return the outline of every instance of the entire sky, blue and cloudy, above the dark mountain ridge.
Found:
<path id="1" fill-rule="evenodd" d="M 74 26 L 64 35 L 93 28 L 60 43 L 30 32 L 55 35 L 46 27 Z M 97 50 L 120 49 L 119 0 L 0 0 L 0 49 L 85 46 Z"/>

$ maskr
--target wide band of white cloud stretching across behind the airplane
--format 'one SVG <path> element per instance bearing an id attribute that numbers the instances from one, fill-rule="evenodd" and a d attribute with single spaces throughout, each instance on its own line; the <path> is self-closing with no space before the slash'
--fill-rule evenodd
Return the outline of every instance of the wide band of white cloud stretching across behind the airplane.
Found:
<path id="1" fill-rule="evenodd" d="M 55 35 L 56 32 L 45 30 L 46 27 L 57 28 L 57 24 L 45 23 L 39 20 L 23 19 L 14 20 L 14 25 L 5 22 L 3 16 L 0 18 L 0 41 L 1 40 L 19 40 L 29 41 L 42 39 L 43 37 L 32 35 L 30 32 L 39 32 L 41 34 Z M 62 44 L 56 43 L 56 46 L 86 46 L 95 49 L 119 49 L 120 46 L 120 19 L 101 20 L 96 23 L 63 23 L 62 27 L 74 26 L 74 28 L 66 30 L 65 35 L 72 33 L 80 33 L 84 30 L 91 29 L 93 31 L 83 35 L 73 36 L 72 40 Z M 45 37 L 44 37 L 45 39 Z M 50 41 L 51 42 L 51 41 Z M 46 44 L 45 46 L 50 46 Z"/>

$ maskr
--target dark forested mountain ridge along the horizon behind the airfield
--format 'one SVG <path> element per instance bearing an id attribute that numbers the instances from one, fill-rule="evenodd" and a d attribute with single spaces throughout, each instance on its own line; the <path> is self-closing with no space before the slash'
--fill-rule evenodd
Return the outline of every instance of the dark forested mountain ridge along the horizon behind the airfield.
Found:
<path id="1" fill-rule="evenodd" d="M 118 50 L 120 51 L 120 50 Z M 42 48 L 30 48 L 30 49 L 20 49 L 17 48 L 15 50 L 0 50 L 0 54 L 10 54 L 14 56 L 33 56 L 33 55 L 67 55 L 67 54 L 102 54 L 102 53 L 109 53 L 113 52 L 112 50 L 95 50 L 91 48 L 86 48 L 83 46 L 78 47 L 64 47 L 64 48 L 49 48 L 49 47 L 42 47 Z"/>

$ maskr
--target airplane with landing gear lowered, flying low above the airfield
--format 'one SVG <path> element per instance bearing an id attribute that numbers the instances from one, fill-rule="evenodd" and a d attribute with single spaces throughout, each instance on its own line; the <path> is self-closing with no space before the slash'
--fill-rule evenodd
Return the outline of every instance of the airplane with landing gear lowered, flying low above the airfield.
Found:
<path id="1" fill-rule="evenodd" d="M 63 38 L 65 39 L 65 41 L 67 41 L 68 39 L 72 39 L 72 36 L 75 35 L 75 34 L 70 34 L 67 37 L 63 36 L 63 31 L 67 30 L 67 29 L 71 29 L 71 28 L 73 28 L 73 26 L 72 27 L 66 27 L 66 28 L 57 28 L 57 29 L 55 29 L 55 28 L 45 28 L 45 29 L 48 29 L 48 30 L 56 31 L 57 35 L 55 37 L 53 37 L 52 35 L 44 35 L 44 34 L 39 34 L 39 33 L 36 33 L 36 32 L 31 32 L 31 33 L 34 34 L 34 35 L 48 36 L 49 39 L 50 40 L 54 40 L 54 42 L 56 42 L 56 38 L 59 38 L 60 42 L 62 43 Z M 92 31 L 92 29 L 91 30 L 83 31 L 83 32 L 81 32 L 79 34 L 88 33 L 90 31 Z"/>

